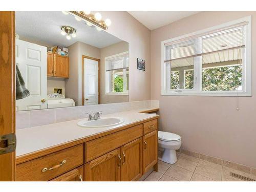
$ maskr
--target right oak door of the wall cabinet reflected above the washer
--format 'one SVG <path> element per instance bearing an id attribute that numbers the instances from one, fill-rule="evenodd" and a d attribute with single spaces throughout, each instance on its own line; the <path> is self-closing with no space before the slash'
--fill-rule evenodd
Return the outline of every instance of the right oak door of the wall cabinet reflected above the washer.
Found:
<path id="1" fill-rule="evenodd" d="M 54 76 L 69 77 L 69 57 L 54 54 Z"/>

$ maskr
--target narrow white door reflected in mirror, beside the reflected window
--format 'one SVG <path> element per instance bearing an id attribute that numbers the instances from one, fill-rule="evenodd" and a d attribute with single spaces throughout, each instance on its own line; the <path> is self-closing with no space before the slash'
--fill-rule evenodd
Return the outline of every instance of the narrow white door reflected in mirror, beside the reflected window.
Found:
<path id="1" fill-rule="evenodd" d="M 84 58 L 84 105 L 98 104 L 98 61 Z"/>

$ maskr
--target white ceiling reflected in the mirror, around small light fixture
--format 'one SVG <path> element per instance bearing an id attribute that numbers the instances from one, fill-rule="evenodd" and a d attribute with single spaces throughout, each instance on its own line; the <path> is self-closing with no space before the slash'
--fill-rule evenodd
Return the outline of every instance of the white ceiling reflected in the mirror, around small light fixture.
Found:
<path id="1" fill-rule="evenodd" d="M 33 41 L 42 41 L 49 45 L 69 47 L 81 41 L 97 48 L 103 48 L 122 41 L 103 30 L 98 31 L 85 22 L 77 21 L 73 15 L 65 15 L 61 11 L 15 11 L 16 33 Z M 60 34 L 61 26 L 76 29 L 77 36 L 68 40 Z"/>

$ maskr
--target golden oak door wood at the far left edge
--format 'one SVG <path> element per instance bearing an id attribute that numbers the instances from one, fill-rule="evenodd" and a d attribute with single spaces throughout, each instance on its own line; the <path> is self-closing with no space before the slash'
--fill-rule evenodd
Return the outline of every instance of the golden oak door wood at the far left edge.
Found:
<path id="1" fill-rule="evenodd" d="M 15 133 L 15 14 L 0 11 L 0 137 Z M 4 142 L 0 142 L 3 147 Z M 0 154 L 0 181 L 15 180 L 15 151 Z"/>

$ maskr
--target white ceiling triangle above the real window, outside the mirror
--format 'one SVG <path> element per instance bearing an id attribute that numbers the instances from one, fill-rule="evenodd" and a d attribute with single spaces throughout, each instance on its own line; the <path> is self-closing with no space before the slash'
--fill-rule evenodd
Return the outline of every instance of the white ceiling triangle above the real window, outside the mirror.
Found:
<path id="1" fill-rule="evenodd" d="M 127 11 L 150 30 L 157 29 L 199 11 Z"/>

